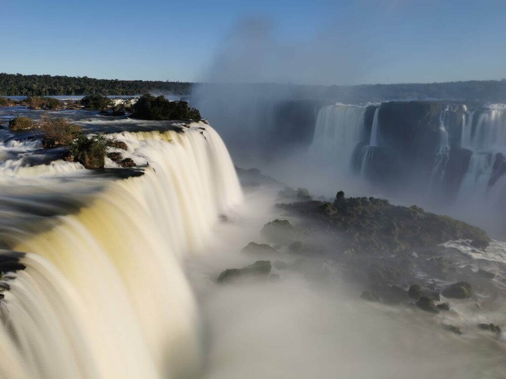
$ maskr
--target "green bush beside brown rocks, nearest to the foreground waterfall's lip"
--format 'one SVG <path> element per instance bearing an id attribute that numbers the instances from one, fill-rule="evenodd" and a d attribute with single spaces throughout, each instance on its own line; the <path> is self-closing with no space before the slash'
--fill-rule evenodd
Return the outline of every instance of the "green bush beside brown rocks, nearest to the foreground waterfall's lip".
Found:
<path id="1" fill-rule="evenodd" d="M 103 168 L 107 141 L 103 134 L 88 137 L 81 133 L 70 143 L 70 157 L 86 168 Z"/>

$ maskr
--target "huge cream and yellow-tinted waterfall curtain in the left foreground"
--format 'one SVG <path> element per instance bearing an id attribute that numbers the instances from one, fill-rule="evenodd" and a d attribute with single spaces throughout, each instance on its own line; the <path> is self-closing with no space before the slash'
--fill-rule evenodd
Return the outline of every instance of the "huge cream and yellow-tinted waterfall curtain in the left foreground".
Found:
<path id="1" fill-rule="evenodd" d="M 205 124 L 115 136 L 147 163 L 142 176 L 103 180 L 78 212 L 57 216 L 47 230 L 11 236 L 12 249 L 26 253 L 26 269 L 4 278 L 10 290 L 0 306 L 0 377 L 161 379 L 199 368 L 198 319 L 183 258 L 203 246 L 220 213 L 240 202 L 234 167 Z M 46 165 L 44 176 L 26 168 L 24 178 L 78 188 L 86 181 L 77 174 L 93 176 L 79 166 Z"/>

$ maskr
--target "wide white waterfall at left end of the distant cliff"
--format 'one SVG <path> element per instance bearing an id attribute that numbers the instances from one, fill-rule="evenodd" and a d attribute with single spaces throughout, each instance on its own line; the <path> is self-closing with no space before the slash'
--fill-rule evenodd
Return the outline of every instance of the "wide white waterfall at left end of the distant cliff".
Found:
<path id="1" fill-rule="evenodd" d="M 323 107 L 318 113 L 309 154 L 320 164 L 349 170 L 355 148 L 364 138 L 366 109 L 343 104 Z"/>

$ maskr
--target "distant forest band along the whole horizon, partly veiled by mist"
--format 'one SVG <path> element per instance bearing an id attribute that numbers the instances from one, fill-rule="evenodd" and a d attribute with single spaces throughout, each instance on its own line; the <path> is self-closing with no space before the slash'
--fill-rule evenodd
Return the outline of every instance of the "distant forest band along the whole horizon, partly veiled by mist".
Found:
<path id="1" fill-rule="evenodd" d="M 185 96 L 193 83 L 146 80 L 93 79 L 86 76 L 21 75 L 0 73 L 0 96 L 56 95 L 136 95 L 165 92 Z M 260 90 L 263 93 L 285 92 L 290 97 L 321 99 L 343 103 L 382 102 L 387 100 L 465 100 L 506 103 L 506 79 L 472 80 L 446 83 L 363 84 L 363 85 L 297 85 L 297 84 L 203 84 L 211 91 Z"/>

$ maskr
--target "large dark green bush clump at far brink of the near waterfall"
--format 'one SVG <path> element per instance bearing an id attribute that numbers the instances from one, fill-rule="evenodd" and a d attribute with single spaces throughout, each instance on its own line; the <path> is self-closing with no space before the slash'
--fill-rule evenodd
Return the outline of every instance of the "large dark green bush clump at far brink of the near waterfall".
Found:
<path id="1" fill-rule="evenodd" d="M 168 101 L 163 96 L 154 97 L 149 93 L 143 94 L 133 105 L 133 118 L 143 120 L 196 120 L 200 121 L 200 112 L 191 108 L 187 102 Z"/>

